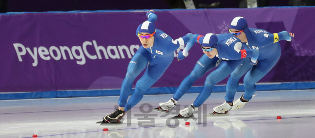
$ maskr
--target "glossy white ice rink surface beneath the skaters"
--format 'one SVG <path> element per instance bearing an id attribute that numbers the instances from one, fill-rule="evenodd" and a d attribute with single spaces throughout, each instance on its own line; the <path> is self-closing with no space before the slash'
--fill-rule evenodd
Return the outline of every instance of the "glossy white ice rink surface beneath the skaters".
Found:
<path id="1" fill-rule="evenodd" d="M 235 100 L 244 92 L 236 93 Z M 314 138 L 315 90 L 261 91 L 229 115 L 206 116 L 224 102 L 212 93 L 196 118 L 170 119 L 198 94 L 185 94 L 170 114 L 152 111 L 173 95 L 146 95 L 123 124 L 100 125 L 118 96 L 0 101 L 0 138 Z M 178 110 L 178 111 L 176 111 Z M 277 119 L 281 116 L 282 119 Z M 189 122 L 190 125 L 185 125 Z M 108 128 L 108 131 L 103 131 Z"/>

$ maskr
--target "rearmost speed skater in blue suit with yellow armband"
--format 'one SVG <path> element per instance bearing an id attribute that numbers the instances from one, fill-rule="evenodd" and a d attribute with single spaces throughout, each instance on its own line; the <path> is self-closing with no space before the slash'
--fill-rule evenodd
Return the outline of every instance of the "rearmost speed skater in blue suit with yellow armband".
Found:
<path id="1" fill-rule="evenodd" d="M 237 110 L 247 104 L 256 91 L 255 83 L 264 77 L 278 62 L 281 55 L 280 40 L 291 41 L 293 33 L 282 31 L 271 34 L 266 30 L 249 28 L 247 21 L 243 17 L 235 17 L 231 22 L 230 33 L 246 43 L 249 49 L 258 49 L 259 57 L 257 64 L 252 65 L 243 62 L 241 66 L 235 69 L 229 77 L 226 84 L 225 102 L 214 107 L 214 111 Z M 234 101 L 238 89 L 239 79 L 244 75 L 245 94 Z"/>

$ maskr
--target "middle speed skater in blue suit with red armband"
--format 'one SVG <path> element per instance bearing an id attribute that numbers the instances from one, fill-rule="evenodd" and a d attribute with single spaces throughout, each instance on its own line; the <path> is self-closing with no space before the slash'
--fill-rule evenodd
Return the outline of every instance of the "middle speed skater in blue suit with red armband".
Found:
<path id="1" fill-rule="evenodd" d="M 245 44 L 236 36 L 231 34 L 207 34 L 193 35 L 193 39 L 189 41 L 184 51 L 178 53 L 178 59 L 183 60 L 188 55 L 191 46 L 198 42 L 204 55 L 197 61 L 190 74 L 182 81 L 173 98 L 168 102 L 160 103 L 155 110 L 167 111 L 172 109 L 177 101 L 189 90 L 192 83 L 203 76 L 209 70 L 218 66 L 206 78 L 204 87 L 193 104 L 180 110 L 178 117 L 190 117 L 197 108 L 203 104 L 212 93 L 212 89 L 221 80 L 227 77 L 234 69 L 236 69 L 246 57 L 250 64 L 256 64 L 259 52 L 257 49 L 244 49 Z M 219 64 L 219 65 L 218 65 Z"/>

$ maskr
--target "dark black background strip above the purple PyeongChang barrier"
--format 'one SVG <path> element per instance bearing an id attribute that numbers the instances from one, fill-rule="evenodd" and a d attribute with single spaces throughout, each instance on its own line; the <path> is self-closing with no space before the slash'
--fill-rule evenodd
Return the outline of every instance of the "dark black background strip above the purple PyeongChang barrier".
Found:
<path id="1" fill-rule="evenodd" d="M 196 8 L 238 8 L 242 1 L 245 0 L 193 0 Z M 295 0 L 257 1 L 263 7 L 289 6 L 289 1 Z M 6 12 L 185 8 L 184 0 L 0 0 L 0 3 L 6 6 Z M 213 3 L 217 6 L 210 6 Z"/>

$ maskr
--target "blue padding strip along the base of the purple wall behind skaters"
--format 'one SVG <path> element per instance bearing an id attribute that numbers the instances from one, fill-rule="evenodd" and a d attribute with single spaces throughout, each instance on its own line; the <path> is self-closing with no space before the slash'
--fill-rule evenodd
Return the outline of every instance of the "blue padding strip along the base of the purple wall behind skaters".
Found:
<path id="1" fill-rule="evenodd" d="M 150 88 L 145 94 L 174 94 L 178 87 Z M 191 87 L 188 93 L 199 93 L 203 87 Z M 225 92 L 226 85 L 216 85 L 213 92 Z M 256 91 L 274 90 L 300 90 L 315 89 L 315 82 L 287 82 L 277 84 L 256 84 Z M 134 89 L 132 89 L 132 93 Z M 240 85 L 238 92 L 244 92 L 244 85 Z M 46 92 L 25 92 L 25 93 L 0 93 L 0 100 L 21 100 L 21 99 L 47 99 L 47 98 L 70 98 L 70 97 L 100 97 L 119 96 L 120 90 L 90 90 L 90 91 L 46 91 Z"/>

